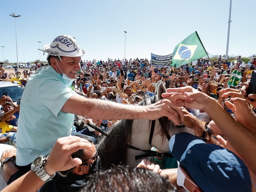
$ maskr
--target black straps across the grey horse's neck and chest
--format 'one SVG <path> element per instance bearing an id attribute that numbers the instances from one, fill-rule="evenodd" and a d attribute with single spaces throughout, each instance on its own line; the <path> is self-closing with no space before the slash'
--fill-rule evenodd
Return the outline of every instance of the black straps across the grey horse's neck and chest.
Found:
<path id="1" fill-rule="evenodd" d="M 156 120 L 153 120 L 152 123 L 151 123 L 150 135 L 149 135 L 149 139 L 148 139 L 148 142 L 149 142 L 150 145 L 151 145 L 154 130 L 155 130 L 155 123 L 156 123 Z M 171 138 L 169 133 L 165 133 L 165 136 L 169 141 L 170 138 Z M 136 160 L 141 159 L 141 158 L 145 158 L 145 157 L 173 157 L 173 155 L 170 154 L 170 153 L 162 153 L 162 152 L 156 152 L 156 151 L 152 151 L 152 150 L 141 150 L 141 149 L 139 149 L 137 147 L 134 147 L 132 145 L 129 145 L 129 144 L 127 144 L 127 147 L 130 148 L 130 149 L 133 149 L 133 150 L 145 152 L 145 154 L 136 155 L 135 156 Z"/>

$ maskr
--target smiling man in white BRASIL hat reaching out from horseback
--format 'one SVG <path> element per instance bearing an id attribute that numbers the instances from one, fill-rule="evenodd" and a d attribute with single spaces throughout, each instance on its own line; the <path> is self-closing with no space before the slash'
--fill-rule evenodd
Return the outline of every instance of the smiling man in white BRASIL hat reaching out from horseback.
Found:
<path id="1" fill-rule="evenodd" d="M 71 135 L 73 114 L 93 119 L 155 120 L 167 116 L 175 124 L 179 124 L 178 116 L 184 119 L 181 109 L 167 99 L 149 106 L 122 105 L 87 99 L 71 90 L 86 51 L 69 35 L 56 37 L 41 51 L 48 53 L 49 66 L 38 69 L 27 81 L 16 136 L 16 164 L 25 170 L 37 156 L 49 154 L 58 138 Z"/>

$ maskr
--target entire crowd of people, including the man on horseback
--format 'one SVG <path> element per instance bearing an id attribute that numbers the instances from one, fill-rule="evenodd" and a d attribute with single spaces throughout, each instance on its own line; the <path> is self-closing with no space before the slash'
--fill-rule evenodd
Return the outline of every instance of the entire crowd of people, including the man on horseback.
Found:
<path id="1" fill-rule="evenodd" d="M 43 51 L 49 66 L 37 69 L 33 78 L 23 73 L 21 104 L 5 95 L 0 100 L 2 134 L 17 131 L 17 149 L 2 146 L 8 184 L 3 191 L 255 191 L 255 155 L 249 151 L 256 151 L 256 93 L 248 94 L 256 83 L 255 57 L 245 67 L 241 57 L 229 63 L 221 56 L 163 68 L 138 58 L 82 61 L 85 51 L 67 35 Z M 242 74 L 237 85 L 229 83 L 235 70 Z M 22 84 L 19 71 L 13 78 L 2 80 Z M 163 99 L 139 106 L 154 97 L 159 81 L 167 91 Z M 107 132 L 120 119 L 163 116 L 191 129 L 193 118 L 204 125 L 201 132 L 193 129 L 194 135 L 170 138 L 168 153 L 175 165 L 168 157 L 151 157 L 137 168 L 100 171 L 95 145 L 104 134 L 97 127 Z M 4 136 L 1 143 L 8 141 Z"/>

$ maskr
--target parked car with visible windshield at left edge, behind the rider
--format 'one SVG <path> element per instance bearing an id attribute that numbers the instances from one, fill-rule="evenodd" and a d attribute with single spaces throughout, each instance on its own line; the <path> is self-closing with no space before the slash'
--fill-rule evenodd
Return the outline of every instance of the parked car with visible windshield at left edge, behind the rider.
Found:
<path id="1" fill-rule="evenodd" d="M 0 83 L 0 98 L 7 94 L 13 102 L 17 102 L 21 99 L 23 91 L 24 88 L 17 83 L 7 81 L 1 81 Z"/>

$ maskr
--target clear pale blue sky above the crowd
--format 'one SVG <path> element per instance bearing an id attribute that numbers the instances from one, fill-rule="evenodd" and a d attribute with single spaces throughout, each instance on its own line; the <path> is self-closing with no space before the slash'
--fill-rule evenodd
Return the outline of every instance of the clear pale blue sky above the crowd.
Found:
<path id="1" fill-rule="evenodd" d="M 14 18 L 16 18 L 18 61 L 39 59 L 40 48 L 58 35 L 75 37 L 87 54 L 83 60 L 150 58 L 150 53 L 168 55 L 185 37 L 197 31 L 205 49 L 226 54 L 229 0 L 215 1 L 14 1 L 2 0 L 0 46 L 4 59 L 17 62 Z M 255 1 L 233 0 L 229 55 L 248 57 L 256 53 Z M 43 52 L 40 59 L 46 60 Z M 3 60 L 0 47 L 0 61 Z"/>

